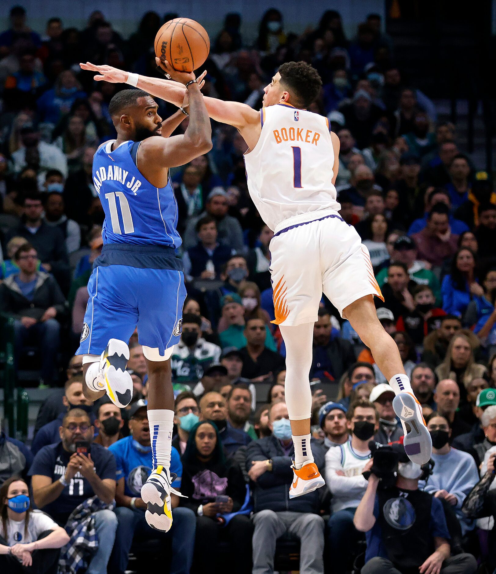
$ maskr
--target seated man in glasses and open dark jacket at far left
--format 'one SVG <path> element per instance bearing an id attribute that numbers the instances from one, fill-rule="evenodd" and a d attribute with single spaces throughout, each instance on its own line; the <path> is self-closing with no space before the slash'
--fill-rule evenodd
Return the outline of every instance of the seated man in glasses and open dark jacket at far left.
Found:
<path id="1" fill-rule="evenodd" d="M 26 344 L 38 347 L 42 382 L 51 385 L 60 348 L 57 319 L 64 316 L 67 304 L 53 276 L 37 270 L 38 254 L 32 245 L 21 245 L 14 260 L 19 272 L 0 285 L 0 311 L 14 317 L 15 362 Z"/>

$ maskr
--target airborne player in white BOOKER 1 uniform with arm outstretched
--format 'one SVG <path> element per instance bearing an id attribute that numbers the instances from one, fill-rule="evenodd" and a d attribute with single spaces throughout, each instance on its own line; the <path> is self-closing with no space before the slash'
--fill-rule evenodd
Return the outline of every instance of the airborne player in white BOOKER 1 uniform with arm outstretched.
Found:
<path id="1" fill-rule="evenodd" d="M 157 59 L 165 72 L 169 63 Z M 125 83 L 128 72 L 92 66 L 97 80 Z M 239 130 L 248 145 L 248 190 L 270 244 L 275 321 L 286 344 L 286 404 L 295 445 L 290 497 L 324 484 L 310 449 L 313 325 L 322 292 L 350 321 L 370 348 L 395 391 L 405 451 L 418 464 L 431 457 L 431 437 L 405 374 L 396 343 L 377 319 L 373 297 L 382 298 L 369 252 L 354 227 L 338 214 L 334 182 L 339 140 L 329 121 L 307 111 L 321 91 L 317 71 L 304 62 L 283 64 L 265 87 L 260 111 L 239 102 L 204 98 L 211 118 Z M 169 80 L 139 76 L 138 88 L 177 106 L 185 88 Z"/>

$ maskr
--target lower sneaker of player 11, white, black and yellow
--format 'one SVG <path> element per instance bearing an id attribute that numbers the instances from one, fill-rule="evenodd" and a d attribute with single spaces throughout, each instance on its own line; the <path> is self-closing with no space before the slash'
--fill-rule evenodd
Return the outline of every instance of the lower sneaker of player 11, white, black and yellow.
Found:
<path id="1" fill-rule="evenodd" d="M 141 498 L 147 505 L 144 517 L 155 530 L 167 532 L 172 526 L 170 495 L 176 494 L 178 497 L 186 498 L 171 487 L 174 479 L 174 474 L 170 475 L 162 465 L 159 465 L 141 487 Z"/>

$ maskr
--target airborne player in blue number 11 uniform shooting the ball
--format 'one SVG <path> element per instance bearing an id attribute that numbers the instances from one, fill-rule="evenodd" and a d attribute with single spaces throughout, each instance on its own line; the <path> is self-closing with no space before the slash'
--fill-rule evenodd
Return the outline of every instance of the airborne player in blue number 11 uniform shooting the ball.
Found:
<path id="1" fill-rule="evenodd" d="M 169 168 L 212 149 L 202 76 L 197 81 L 193 73 L 171 72 L 185 86 L 185 102 L 189 98 L 184 135 L 161 137 L 179 125 L 178 115 L 162 125 L 157 103 L 142 90 L 120 91 L 108 107 L 117 139 L 102 144 L 93 158 L 93 184 L 105 212 L 104 245 L 88 283 L 77 350 L 84 355 L 85 396 L 94 401 L 107 393 L 115 405 L 125 407 L 132 396 L 127 342 L 138 325 L 149 376 L 153 456 L 153 472 L 141 496 L 149 525 L 165 531 L 172 523 L 170 494 L 179 494 L 171 488 L 169 472 L 174 418 L 170 356 L 181 335 L 186 296 L 181 259 L 175 255 L 181 238 Z M 132 76 L 128 83 L 136 86 Z"/>

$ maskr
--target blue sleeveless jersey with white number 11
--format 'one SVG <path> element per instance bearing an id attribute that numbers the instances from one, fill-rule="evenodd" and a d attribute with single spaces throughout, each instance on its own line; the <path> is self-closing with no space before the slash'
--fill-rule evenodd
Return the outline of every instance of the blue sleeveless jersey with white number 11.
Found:
<path id="1" fill-rule="evenodd" d="M 105 221 L 103 243 L 179 247 L 178 209 L 170 180 L 166 187 L 151 185 L 136 167 L 141 142 L 127 141 L 113 152 L 108 141 L 93 158 L 93 184 Z"/>

